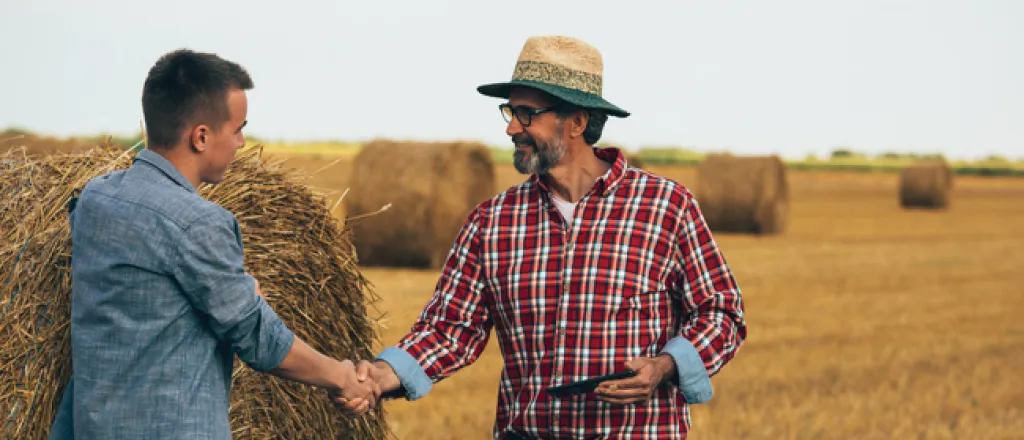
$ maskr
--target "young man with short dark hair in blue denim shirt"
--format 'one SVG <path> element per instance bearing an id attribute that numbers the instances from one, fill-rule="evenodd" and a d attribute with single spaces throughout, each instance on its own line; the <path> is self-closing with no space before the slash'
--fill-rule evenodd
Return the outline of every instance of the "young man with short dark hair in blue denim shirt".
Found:
<path id="1" fill-rule="evenodd" d="M 239 64 L 177 50 L 142 90 L 148 149 L 72 212 L 73 381 L 52 439 L 229 440 L 233 356 L 367 410 L 379 390 L 298 339 L 243 267 L 234 216 L 197 192 L 245 145 Z M 358 403 L 361 398 L 361 403 Z"/>

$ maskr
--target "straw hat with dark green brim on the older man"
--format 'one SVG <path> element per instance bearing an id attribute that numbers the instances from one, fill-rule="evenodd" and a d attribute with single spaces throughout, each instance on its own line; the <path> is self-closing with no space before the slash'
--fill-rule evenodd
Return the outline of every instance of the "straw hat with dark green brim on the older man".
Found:
<path id="1" fill-rule="evenodd" d="M 583 40 L 530 37 L 519 53 L 511 81 L 484 84 L 476 90 L 485 96 L 508 99 L 510 88 L 531 87 L 582 107 L 602 109 L 620 118 L 630 116 L 601 96 L 603 69 L 601 52 Z"/>

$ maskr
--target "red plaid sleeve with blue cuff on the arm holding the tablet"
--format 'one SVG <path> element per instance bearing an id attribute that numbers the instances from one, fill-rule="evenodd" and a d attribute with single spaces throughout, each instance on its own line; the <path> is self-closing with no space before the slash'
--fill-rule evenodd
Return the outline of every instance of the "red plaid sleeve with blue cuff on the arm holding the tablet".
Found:
<path id="1" fill-rule="evenodd" d="M 664 352 L 676 363 L 678 385 L 689 403 L 711 400 L 711 378 L 736 354 L 746 338 L 739 287 L 705 222 L 693 195 L 684 190 L 679 259 L 683 270 L 675 292 L 689 315 Z"/>

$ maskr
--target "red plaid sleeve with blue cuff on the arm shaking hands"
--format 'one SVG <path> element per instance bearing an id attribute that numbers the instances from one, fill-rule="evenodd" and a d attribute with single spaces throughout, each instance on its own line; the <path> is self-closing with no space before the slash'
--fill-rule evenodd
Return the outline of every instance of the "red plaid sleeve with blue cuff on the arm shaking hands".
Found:
<path id="1" fill-rule="evenodd" d="M 409 400 L 479 358 L 494 325 L 479 267 L 480 210 L 463 225 L 437 280 L 434 294 L 394 347 L 377 357 L 395 370 Z"/>

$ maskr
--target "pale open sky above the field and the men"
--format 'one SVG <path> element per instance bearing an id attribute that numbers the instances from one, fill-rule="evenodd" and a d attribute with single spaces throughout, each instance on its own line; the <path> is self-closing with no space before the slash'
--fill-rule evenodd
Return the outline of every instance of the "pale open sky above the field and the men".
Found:
<path id="1" fill-rule="evenodd" d="M 188 47 L 249 70 L 251 135 L 510 145 L 475 87 L 559 34 L 601 51 L 628 148 L 1024 158 L 1022 24 L 1019 0 L 2 0 L 0 128 L 137 132 L 148 68 Z"/>

